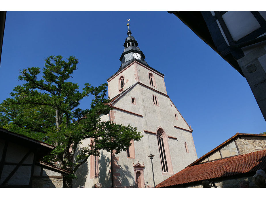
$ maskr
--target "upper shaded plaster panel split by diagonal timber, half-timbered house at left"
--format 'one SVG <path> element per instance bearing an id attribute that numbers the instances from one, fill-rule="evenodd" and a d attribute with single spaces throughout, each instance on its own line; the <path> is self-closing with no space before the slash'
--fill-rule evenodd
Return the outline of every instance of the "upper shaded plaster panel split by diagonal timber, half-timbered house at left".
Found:
<path id="1" fill-rule="evenodd" d="M 29 148 L 9 142 L 7 147 L 6 162 L 19 163 L 22 158 L 29 152 Z M 32 164 L 34 158 L 33 152 L 24 160 L 23 164 Z"/>

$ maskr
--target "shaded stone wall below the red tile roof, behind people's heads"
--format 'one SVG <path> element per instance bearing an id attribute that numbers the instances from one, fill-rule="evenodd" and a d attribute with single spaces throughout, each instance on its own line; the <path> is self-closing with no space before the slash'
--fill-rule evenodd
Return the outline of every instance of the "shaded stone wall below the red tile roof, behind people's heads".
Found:
<path id="1" fill-rule="evenodd" d="M 217 188 L 240 188 L 239 187 L 239 182 L 241 180 L 246 180 L 249 183 L 250 188 L 256 188 L 257 186 L 254 184 L 252 180 L 252 176 L 247 176 L 247 177 L 238 177 L 234 179 L 226 179 L 222 181 L 214 181 L 215 185 Z M 211 181 L 210 181 L 211 183 Z M 202 188 L 201 184 L 196 184 L 194 186 L 187 186 L 185 188 Z"/>

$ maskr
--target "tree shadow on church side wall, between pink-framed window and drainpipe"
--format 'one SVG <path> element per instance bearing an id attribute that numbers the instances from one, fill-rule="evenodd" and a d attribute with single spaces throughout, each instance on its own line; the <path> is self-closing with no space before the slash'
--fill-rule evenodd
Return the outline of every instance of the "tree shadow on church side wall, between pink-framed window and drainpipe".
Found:
<path id="1" fill-rule="evenodd" d="M 103 152 L 101 152 L 99 163 L 99 183 L 102 184 L 102 187 L 111 187 L 111 158 L 107 157 L 107 154 L 103 154 Z M 109 172 L 107 173 L 107 171 Z"/>

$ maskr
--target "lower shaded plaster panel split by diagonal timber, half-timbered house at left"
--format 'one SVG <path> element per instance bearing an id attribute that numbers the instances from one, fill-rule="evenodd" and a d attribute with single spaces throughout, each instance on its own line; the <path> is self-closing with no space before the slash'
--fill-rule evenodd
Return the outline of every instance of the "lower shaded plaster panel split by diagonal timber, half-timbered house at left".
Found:
<path id="1" fill-rule="evenodd" d="M 1 176 L 2 183 L 16 166 L 4 165 Z M 20 166 L 7 182 L 8 185 L 28 185 L 31 178 L 31 166 Z"/>

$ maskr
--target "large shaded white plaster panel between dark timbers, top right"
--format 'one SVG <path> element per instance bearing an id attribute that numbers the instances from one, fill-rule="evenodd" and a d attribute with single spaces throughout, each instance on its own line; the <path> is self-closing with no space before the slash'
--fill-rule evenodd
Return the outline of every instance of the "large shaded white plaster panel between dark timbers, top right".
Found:
<path id="1" fill-rule="evenodd" d="M 235 41 L 261 27 L 250 11 L 228 11 L 222 17 Z"/>

